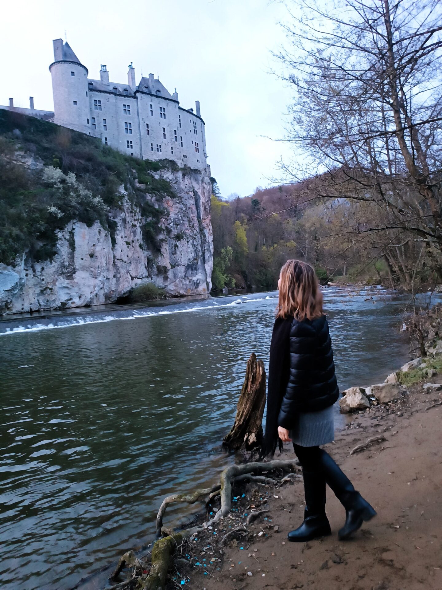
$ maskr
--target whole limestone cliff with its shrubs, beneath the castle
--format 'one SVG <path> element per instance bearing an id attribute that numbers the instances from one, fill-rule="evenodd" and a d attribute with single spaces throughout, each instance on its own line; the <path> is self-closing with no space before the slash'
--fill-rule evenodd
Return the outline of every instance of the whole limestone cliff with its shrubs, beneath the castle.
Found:
<path id="1" fill-rule="evenodd" d="M 0 111 L 0 314 L 209 293 L 210 169 Z"/>

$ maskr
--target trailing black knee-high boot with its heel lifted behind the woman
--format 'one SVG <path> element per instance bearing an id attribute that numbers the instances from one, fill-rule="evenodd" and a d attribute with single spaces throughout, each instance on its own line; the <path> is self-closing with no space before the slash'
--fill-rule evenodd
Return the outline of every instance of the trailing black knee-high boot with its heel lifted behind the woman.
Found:
<path id="1" fill-rule="evenodd" d="M 328 453 L 324 450 L 321 452 L 321 468 L 325 476 L 325 481 L 334 491 L 335 496 L 345 507 L 345 525 L 339 529 L 339 540 L 348 539 L 357 531 L 364 520 L 367 522 L 376 516 L 376 511 L 367 500 L 354 489 L 353 484 L 348 477 L 342 472 L 341 468 L 335 463 Z"/>

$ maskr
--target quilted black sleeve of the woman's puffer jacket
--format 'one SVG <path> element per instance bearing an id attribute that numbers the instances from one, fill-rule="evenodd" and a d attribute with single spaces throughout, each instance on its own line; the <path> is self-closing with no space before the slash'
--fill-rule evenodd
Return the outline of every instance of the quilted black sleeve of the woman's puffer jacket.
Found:
<path id="1" fill-rule="evenodd" d="M 290 376 L 278 416 L 278 426 L 290 430 L 304 403 L 305 391 L 315 374 L 318 334 L 307 322 L 293 319 L 290 330 Z"/>

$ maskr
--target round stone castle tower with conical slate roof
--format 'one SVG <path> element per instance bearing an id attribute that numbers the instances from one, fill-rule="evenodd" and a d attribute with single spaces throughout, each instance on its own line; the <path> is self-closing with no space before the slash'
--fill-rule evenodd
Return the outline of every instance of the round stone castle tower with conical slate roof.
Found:
<path id="1" fill-rule="evenodd" d="M 88 70 L 68 42 L 55 39 L 53 43 L 54 62 L 49 70 L 54 95 L 54 123 L 89 133 Z"/>

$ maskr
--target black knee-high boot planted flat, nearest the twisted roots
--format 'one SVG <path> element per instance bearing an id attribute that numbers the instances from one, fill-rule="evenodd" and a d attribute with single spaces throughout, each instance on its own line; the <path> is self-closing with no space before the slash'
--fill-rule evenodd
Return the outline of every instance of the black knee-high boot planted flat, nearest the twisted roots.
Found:
<path id="1" fill-rule="evenodd" d="M 325 516 L 324 475 L 319 471 L 302 471 L 305 494 L 304 522 L 287 535 L 288 540 L 295 543 L 331 535 L 330 525 Z"/>

